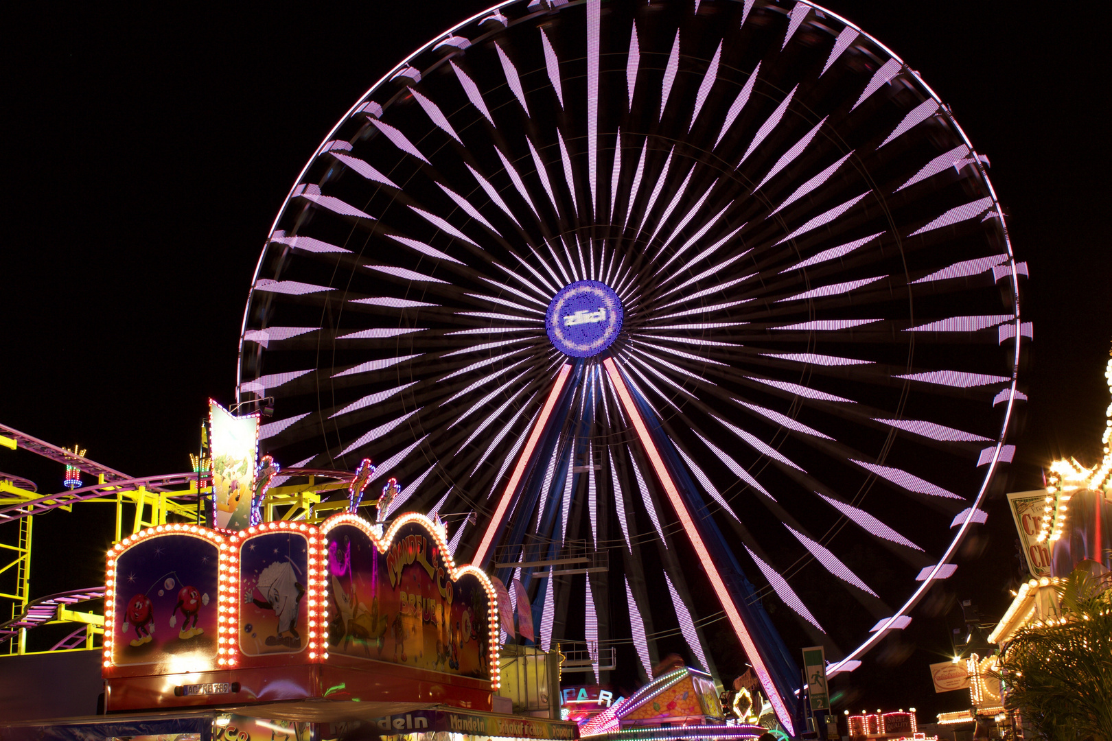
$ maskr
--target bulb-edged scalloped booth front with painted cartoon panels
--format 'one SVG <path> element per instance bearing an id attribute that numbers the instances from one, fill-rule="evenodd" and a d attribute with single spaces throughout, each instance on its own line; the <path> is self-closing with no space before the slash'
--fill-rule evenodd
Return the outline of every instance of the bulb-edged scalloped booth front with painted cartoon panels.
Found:
<path id="1" fill-rule="evenodd" d="M 108 552 L 105 609 L 112 711 L 321 698 L 490 710 L 500 685 L 494 587 L 414 512 L 385 532 L 349 512 L 319 528 L 150 528 Z"/>

